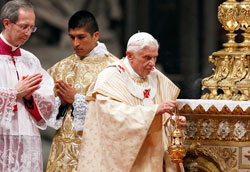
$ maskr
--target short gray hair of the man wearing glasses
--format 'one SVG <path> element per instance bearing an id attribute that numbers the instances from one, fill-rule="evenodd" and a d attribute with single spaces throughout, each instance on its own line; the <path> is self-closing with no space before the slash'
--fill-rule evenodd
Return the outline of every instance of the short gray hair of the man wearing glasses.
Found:
<path id="1" fill-rule="evenodd" d="M 9 19 L 11 23 L 16 23 L 18 20 L 18 10 L 25 8 L 35 12 L 34 6 L 28 0 L 12 0 L 4 4 L 1 9 L 1 23 L 4 19 Z"/>

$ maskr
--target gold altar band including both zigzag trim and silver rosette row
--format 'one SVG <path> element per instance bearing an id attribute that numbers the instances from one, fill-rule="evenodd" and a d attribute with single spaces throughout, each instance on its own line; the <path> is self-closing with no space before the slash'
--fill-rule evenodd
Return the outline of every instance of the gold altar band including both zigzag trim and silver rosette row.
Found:
<path id="1" fill-rule="evenodd" d="M 184 128 L 185 141 L 243 141 L 247 143 L 250 141 L 247 135 L 247 129 L 250 127 L 249 113 L 249 108 L 243 111 L 239 106 L 232 111 L 226 105 L 220 111 L 215 106 L 211 106 L 205 111 L 201 105 L 192 110 L 186 104 L 180 109 L 180 114 L 186 116 L 187 119 Z"/>

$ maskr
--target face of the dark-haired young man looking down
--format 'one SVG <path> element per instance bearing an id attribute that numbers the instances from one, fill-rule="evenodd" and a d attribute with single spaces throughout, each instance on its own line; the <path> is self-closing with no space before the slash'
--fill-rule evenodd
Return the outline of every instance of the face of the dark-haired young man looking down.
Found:
<path id="1" fill-rule="evenodd" d="M 85 28 L 77 27 L 69 30 L 69 36 L 75 53 L 80 58 L 84 58 L 96 47 L 99 32 L 95 32 L 91 35 Z"/>

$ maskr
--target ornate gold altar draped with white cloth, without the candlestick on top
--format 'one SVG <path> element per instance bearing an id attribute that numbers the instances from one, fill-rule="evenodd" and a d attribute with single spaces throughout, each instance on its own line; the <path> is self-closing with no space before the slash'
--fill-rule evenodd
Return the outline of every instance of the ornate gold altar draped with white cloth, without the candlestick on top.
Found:
<path id="1" fill-rule="evenodd" d="M 250 171 L 250 101 L 178 99 L 186 171 Z"/>

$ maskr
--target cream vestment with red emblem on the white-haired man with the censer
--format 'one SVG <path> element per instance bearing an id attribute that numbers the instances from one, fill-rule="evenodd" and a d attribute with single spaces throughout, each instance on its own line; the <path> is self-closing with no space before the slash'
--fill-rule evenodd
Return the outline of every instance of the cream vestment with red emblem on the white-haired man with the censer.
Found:
<path id="1" fill-rule="evenodd" d="M 78 172 L 162 172 L 164 120 L 155 113 L 158 103 L 178 93 L 156 69 L 137 77 L 127 58 L 106 68 L 87 94 Z M 167 162 L 167 172 L 176 172 Z"/>

